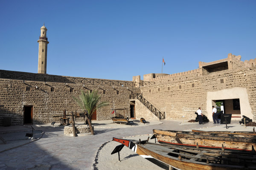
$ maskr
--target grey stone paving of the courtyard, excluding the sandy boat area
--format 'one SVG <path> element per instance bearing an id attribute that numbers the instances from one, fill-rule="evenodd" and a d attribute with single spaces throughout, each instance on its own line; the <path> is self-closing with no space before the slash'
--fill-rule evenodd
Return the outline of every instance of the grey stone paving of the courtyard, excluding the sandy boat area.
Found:
<path id="1" fill-rule="evenodd" d="M 42 138 L 0 153 L 0 170 L 92 170 L 97 150 L 105 142 L 111 141 L 113 136 L 121 138 L 152 134 L 153 129 L 189 130 L 212 127 L 215 130 L 219 130 L 218 128 L 224 130 L 224 125 L 212 124 L 212 122 L 198 125 L 198 123 L 163 120 L 159 123 L 158 125 L 152 123 L 152 125 L 129 126 L 129 128 L 97 128 L 95 126 L 96 135 L 78 137 L 65 136 L 63 126 L 34 127 L 35 130 L 44 131 Z"/>

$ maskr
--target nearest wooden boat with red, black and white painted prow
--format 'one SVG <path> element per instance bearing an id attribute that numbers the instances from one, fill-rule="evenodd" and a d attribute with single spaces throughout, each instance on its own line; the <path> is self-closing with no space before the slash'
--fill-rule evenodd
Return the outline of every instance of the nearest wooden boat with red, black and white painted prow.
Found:
<path id="1" fill-rule="evenodd" d="M 148 138 L 149 139 L 149 138 Z M 209 150 L 190 147 L 175 147 L 166 144 L 150 143 L 148 140 L 136 141 L 118 139 L 144 158 L 154 158 L 168 164 L 169 169 L 177 170 L 255 170 L 255 151 Z"/>

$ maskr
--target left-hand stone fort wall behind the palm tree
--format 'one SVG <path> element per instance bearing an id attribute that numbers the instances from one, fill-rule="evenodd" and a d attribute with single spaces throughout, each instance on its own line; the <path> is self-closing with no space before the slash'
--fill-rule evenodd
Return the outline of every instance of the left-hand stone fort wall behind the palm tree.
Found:
<path id="1" fill-rule="evenodd" d="M 63 115 L 64 109 L 67 115 L 71 111 L 83 112 L 73 99 L 81 90 L 98 90 L 101 100 L 110 103 L 97 109 L 97 120 L 111 119 L 113 108 L 127 108 L 124 116 L 130 116 L 130 94 L 140 93 L 140 88 L 132 85 L 131 81 L 0 70 L 0 125 L 5 116 L 11 117 L 12 125 L 23 124 L 24 105 L 33 106 L 33 123 L 59 122 L 53 116 Z"/>

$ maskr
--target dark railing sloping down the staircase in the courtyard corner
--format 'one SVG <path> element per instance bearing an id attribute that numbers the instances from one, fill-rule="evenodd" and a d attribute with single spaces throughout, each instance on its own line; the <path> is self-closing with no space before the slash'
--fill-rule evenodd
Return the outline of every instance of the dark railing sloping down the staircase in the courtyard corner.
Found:
<path id="1" fill-rule="evenodd" d="M 150 102 L 148 102 L 143 96 L 142 94 L 131 94 L 130 95 L 130 99 L 138 99 L 140 100 L 140 102 L 143 103 L 143 105 L 145 105 L 152 113 L 154 113 L 154 115 L 156 115 L 157 117 L 159 117 L 159 120 L 161 119 L 165 119 L 165 112 L 160 112 L 159 110 L 157 110 L 157 108 L 155 108 L 153 105 L 151 105 Z"/>

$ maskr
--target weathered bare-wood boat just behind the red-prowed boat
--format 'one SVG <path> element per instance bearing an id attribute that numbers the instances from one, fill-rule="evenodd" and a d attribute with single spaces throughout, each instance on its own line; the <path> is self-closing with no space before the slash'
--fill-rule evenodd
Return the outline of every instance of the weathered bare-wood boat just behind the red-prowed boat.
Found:
<path id="1" fill-rule="evenodd" d="M 233 134 L 218 134 L 204 133 L 203 135 L 198 132 L 188 131 L 175 131 L 175 130 L 153 130 L 154 136 L 160 144 L 187 144 L 191 146 L 204 146 L 211 148 L 224 148 L 237 149 L 237 150 L 252 150 L 252 146 L 256 148 L 255 137 L 241 137 Z"/>

